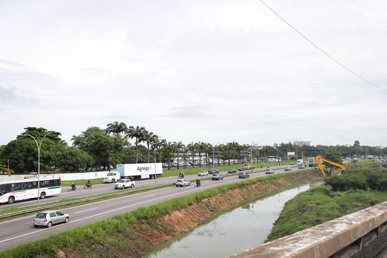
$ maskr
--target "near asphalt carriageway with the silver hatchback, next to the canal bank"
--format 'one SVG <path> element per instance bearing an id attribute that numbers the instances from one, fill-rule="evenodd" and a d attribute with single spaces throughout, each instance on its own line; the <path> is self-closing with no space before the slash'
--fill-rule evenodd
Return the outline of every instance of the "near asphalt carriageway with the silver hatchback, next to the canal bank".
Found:
<path id="1" fill-rule="evenodd" d="M 284 171 L 283 169 L 275 170 L 274 174 L 282 174 L 285 172 L 288 171 Z M 250 178 L 264 177 L 265 175 L 265 172 L 258 172 L 250 174 Z M 196 177 L 197 175 L 191 176 L 191 178 Z M 232 184 L 242 180 L 248 179 L 239 179 L 238 175 L 234 175 L 230 177 L 224 177 L 224 180 L 220 181 L 202 181 L 202 185 L 200 187 L 196 187 L 195 183 L 186 187 L 168 187 L 148 191 L 146 193 L 122 196 L 110 200 L 98 201 L 95 203 L 61 209 L 61 212 L 70 215 L 70 222 L 67 224 L 56 224 L 51 228 L 35 228 L 32 224 L 35 215 L 6 220 L 0 222 L 0 228 L 2 229 L 2 232 L 6 232 L 6 234 L 0 235 L 0 249 L 12 248 L 22 243 L 35 241 L 43 237 L 50 236 L 51 234 L 56 234 L 68 229 L 74 229 L 76 227 L 89 224 L 90 222 L 103 220 L 104 218 L 108 218 L 113 215 L 135 210 L 141 206 L 151 205 L 153 203 L 158 203 L 160 201 L 168 200 L 185 194 L 194 193 L 195 191 L 222 186 L 224 184 Z M 102 185 L 100 189 L 103 189 L 103 187 L 106 186 Z"/>

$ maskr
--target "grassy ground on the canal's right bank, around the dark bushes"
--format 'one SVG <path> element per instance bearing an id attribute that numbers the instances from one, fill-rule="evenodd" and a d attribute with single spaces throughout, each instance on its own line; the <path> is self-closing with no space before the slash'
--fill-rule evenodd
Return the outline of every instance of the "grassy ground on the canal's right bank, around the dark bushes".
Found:
<path id="1" fill-rule="evenodd" d="M 365 165 L 365 169 L 363 169 L 363 165 Z M 357 169 L 356 166 L 361 167 L 361 169 Z M 387 169 L 381 168 L 378 163 L 373 164 L 369 160 L 348 164 L 349 167 L 351 168 L 349 171 L 352 173 L 362 172 L 362 170 L 378 171 L 381 176 L 387 173 Z M 327 186 L 315 187 L 298 194 L 286 203 L 267 241 L 288 236 L 384 201 L 387 201 L 387 191 L 369 189 L 333 191 Z"/>

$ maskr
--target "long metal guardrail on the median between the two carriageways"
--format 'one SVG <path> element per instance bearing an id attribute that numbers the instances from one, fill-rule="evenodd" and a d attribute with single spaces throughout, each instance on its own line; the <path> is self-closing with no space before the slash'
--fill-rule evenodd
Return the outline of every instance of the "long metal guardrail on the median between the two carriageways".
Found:
<path id="1" fill-rule="evenodd" d="M 279 169 L 282 169 L 282 168 L 279 168 Z M 279 169 L 273 169 L 273 170 L 279 170 Z M 253 170 L 251 170 L 250 173 L 258 173 L 258 172 L 264 172 L 264 171 L 265 170 L 262 168 L 262 171 L 254 171 L 253 172 Z M 233 174 L 226 174 L 224 176 L 232 176 L 232 175 Z M 201 177 L 201 179 L 211 179 L 211 178 L 212 178 L 212 176 L 211 177 Z M 188 180 L 188 181 L 192 182 L 192 181 L 195 181 L 195 179 Z M 101 196 L 85 198 L 85 199 L 80 199 L 80 200 L 67 201 L 67 202 L 64 202 L 64 203 L 56 203 L 56 204 L 41 206 L 41 207 L 38 207 L 38 208 L 22 210 L 22 211 L 19 211 L 19 212 L 12 212 L 12 213 L 3 214 L 3 215 L 0 215 L 0 218 L 7 218 L 7 217 L 15 216 L 15 215 L 21 215 L 21 214 L 24 214 L 24 213 L 36 212 L 38 210 L 43 210 L 43 209 L 47 209 L 47 208 L 53 208 L 53 207 L 67 205 L 67 204 L 73 204 L 73 203 L 81 203 L 83 201 L 98 200 L 98 199 L 105 198 L 105 197 L 117 196 L 117 195 L 127 194 L 127 193 L 134 193 L 134 192 L 138 192 L 138 191 L 142 191 L 142 190 L 153 189 L 153 188 L 158 188 L 158 187 L 161 187 L 161 186 L 169 186 L 169 185 L 174 185 L 174 184 L 176 184 L 176 182 L 170 182 L 170 183 L 165 183 L 165 184 L 158 184 L 156 186 L 149 186 L 149 187 L 144 187 L 144 188 L 138 188 L 138 189 L 134 189 L 134 190 L 123 191 L 123 192 L 120 192 L 120 193 L 105 194 L 105 195 L 101 195 Z"/>

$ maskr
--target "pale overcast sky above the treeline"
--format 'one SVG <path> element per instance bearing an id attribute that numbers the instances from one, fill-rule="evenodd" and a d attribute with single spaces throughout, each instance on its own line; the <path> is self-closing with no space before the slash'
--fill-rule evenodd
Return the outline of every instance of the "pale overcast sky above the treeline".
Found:
<path id="1" fill-rule="evenodd" d="M 387 2 L 265 0 L 387 88 Z M 0 144 L 115 120 L 167 141 L 387 146 L 387 91 L 253 1 L 1 1 Z"/>

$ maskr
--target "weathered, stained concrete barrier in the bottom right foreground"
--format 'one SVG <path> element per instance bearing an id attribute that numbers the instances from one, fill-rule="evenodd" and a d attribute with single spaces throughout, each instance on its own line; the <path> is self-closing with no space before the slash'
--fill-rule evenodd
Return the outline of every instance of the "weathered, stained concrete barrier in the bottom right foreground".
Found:
<path id="1" fill-rule="evenodd" d="M 230 257 L 351 257 L 386 229 L 387 202 Z"/>

